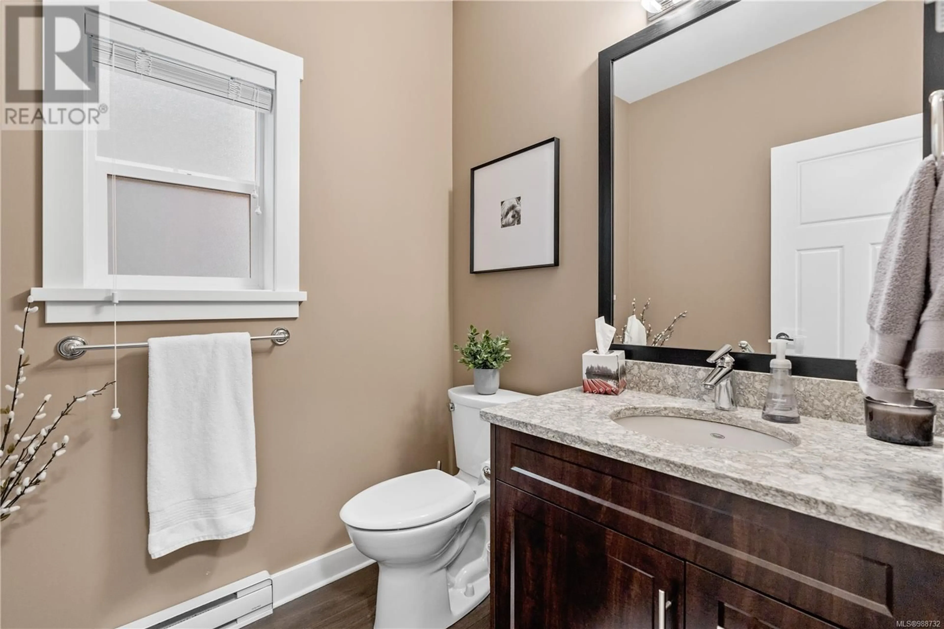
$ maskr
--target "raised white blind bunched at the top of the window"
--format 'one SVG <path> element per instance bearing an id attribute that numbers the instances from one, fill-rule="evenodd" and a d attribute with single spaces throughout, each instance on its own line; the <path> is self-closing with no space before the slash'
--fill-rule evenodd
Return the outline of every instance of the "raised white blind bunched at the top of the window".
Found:
<path id="1" fill-rule="evenodd" d="M 92 37 L 92 59 L 99 66 L 149 76 L 196 92 L 227 98 L 254 110 L 272 111 L 272 91 L 255 83 L 198 68 L 121 42 Z"/>

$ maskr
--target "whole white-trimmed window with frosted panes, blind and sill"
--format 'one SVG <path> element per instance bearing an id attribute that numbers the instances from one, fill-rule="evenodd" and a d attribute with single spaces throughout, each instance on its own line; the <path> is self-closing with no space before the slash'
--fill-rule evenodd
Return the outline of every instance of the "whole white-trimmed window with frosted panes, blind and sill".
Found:
<path id="1" fill-rule="evenodd" d="M 110 320 L 112 294 L 121 320 L 297 316 L 302 59 L 108 10 L 84 33 L 107 128 L 43 133 L 46 321 Z"/>

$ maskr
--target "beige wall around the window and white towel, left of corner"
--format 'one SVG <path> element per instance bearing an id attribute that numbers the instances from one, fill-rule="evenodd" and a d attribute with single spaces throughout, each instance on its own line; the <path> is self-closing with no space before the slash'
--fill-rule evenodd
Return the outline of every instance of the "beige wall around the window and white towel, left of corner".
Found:
<path id="1" fill-rule="evenodd" d="M 128 324 L 120 339 L 210 331 L 292 342 L 254 348 L 259 487 L 247 536 L 146 553 L 146 356 L 119 358 L 123 417 L 96 399 L 70 418 L 76 445 L 47 487 L 5 524 L 3 626 L 114 627 L 257 570 L 345 545 L 341 505 L 396 474 L 447 460 L 449 3 L 174 5 L 305 59 L 301 285 L 297 320 Z M 41 277 L 40 136 L 2 136 L 2 326 Z M 76 193 L 77 194 L 77 193 Z M 40 313 L 42 315 L 42 311 Z M 53 357 L 66 334 L 107 342 L 105 325 L 29 335 L 29 399 L 110 379 L 110 356 Z M 14 337 L 3 336 L 10 382 Z M 369 391 L 369 395 L 365 394 Z"/>

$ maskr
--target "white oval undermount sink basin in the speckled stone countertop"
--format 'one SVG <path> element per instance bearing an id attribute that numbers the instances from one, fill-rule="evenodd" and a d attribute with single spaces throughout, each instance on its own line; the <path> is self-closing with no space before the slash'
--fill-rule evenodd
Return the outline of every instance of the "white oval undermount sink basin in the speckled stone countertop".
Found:
<path id="1" fill-rule="evenodd" d="M 722 424 L 707 419 L 666 415 L 637 415 L 617 417 L 614 421 L 635 433 L 666 439 L 684 446 L 706 446 L 759 452 L 786 450 L 795 444 L 750 428 Z"/>

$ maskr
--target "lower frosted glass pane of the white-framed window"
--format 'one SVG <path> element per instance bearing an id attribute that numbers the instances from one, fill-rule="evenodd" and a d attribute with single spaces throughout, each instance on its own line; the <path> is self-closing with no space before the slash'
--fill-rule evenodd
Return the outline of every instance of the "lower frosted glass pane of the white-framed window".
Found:
<path id="1" fill-rule="evenodd" d="M 117 213 L 119 275 L 250 275 L 249 195 L 109 177 L 109 208 L 109 271 Z"/>

